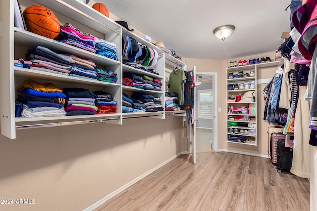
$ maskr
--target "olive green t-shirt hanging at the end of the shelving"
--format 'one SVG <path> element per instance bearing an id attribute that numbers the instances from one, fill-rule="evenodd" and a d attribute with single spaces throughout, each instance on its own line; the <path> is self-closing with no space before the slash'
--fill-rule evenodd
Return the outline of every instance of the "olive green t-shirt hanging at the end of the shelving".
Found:
<path id="1" fill-rule="evenodd" d="M 170 73 L 168 79 L 168 85 L 170 92 L 178 94 L 178 101 L 182 102 L 183 83 L 186 82 L 186 76 L 184 71 L 177 69 Z"/>

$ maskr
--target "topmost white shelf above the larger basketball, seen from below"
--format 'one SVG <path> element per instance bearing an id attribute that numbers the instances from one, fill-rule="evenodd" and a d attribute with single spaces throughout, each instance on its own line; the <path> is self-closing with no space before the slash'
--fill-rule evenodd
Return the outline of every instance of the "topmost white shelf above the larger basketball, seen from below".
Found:
<path id="1" fill-rule="evenodd" d="M 116 22 L 78 0 L 34 1 L 57 11 L 62 15 L 72 17 L 73 20 L 89 26 L 90 28 L 103 34 L 107 34 L 109 32 L 120 34 L 120 26 Z"/>

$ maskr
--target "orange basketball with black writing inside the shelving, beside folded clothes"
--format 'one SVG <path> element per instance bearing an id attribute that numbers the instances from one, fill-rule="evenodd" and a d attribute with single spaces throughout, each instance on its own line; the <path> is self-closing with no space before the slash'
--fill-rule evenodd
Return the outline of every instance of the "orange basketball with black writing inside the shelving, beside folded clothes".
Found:
<path id="1" fill-rule="evenodd" d="M 56 15 L 43 6 L 33 5 L 23 11 L 28 31 L 47 38 L 55 38 L 59 34 L 60 24 Z"/>

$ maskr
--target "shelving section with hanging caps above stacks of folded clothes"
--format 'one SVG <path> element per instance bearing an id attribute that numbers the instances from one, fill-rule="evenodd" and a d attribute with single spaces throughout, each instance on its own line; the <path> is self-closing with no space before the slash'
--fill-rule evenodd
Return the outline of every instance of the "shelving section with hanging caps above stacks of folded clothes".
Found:
<path id="1" fill-rule="evenodd" d="M 124 54 L 122 55 L 123 80 L 127 80 L 127 78 L 135 78 L 133 80 L 141 80 L 142 83 L 146 84 L 146 87 L 138 86 L 137 84 L 132 86 L 129 86 L 126 83 L 123 84 L 123 105 L 130 105 L 126 104 L 127 100 L 144 100 L 144 104 L 147 104 L 146 107 L 135 107 L 134 105 L 138 104 L 134 102 L 132 109 L 130 107 L 124 107 L 122 114 L 123 119 L 146 116 L 164 119 L 165 112 L 163 105 L 165 104 L 165 87 L 163 84 L 165 79 L 165 55 L 161 49 L 151 42 L 151 40 L 147 39 L 149 38 L 148 36 L 141 38 L 133 33 L 133 29 L 129 29 L 127 24 L 122 26 L 122 38 L 126 36 L 127 39 L 131 40 L 130 53 L 125 52 L 124 49 L 122 50 Z M 141 95 L 144 97 L 154 97 L 152 100 L 154 103 L 152 101 L 146 102 L 149 101 L 149 99 L 136 99 L 140 97 L 142 98 Z"/>

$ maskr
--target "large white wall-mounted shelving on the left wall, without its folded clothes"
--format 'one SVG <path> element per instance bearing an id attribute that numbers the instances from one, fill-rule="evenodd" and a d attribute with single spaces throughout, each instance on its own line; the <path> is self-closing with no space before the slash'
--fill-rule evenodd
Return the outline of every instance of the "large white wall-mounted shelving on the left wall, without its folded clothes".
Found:
<path id="1" fill-rule="evenodd" d="M 121 25 L 97 12 L 90 6 L 77 0 L 28 0 L 20 1 L 22 8 L 30 5 L 40 4 L 51 9 L 54 14 L 62 20 L 63 23 L 70 23 L 74 27 L 85 26 L 91 29 L 92 32 L 98 33 L 99 38 L 103 38 L 108 42 L 112 42 L 117 46 L 118 61 L 71 46 L 62 42 L 58 42 L 26 30 L 14 27 L 14 0 L 9 2 L 0 2 L 0 23 L 1 36 L 0 44 L 4 50 L 0 51 L 0 122 L 1 134 L 11 139 L 16 138 L 16 130 L 35 127 L 52 127 L 60 125 L 84 124 L 95 122 L 107 122 L 112 124 L 122 124 L 123 119 L 150 117 L 150 118 L 165 118 L 165 112 L 133 112 L 122 113 L 122 93 L 127 92 L 133 94 L 135 92 L 145 92 L 155 97 L 159 97 L 164 106 L 165 86 L 162 85 L 161 91 L 144 90 L 135 87 L 124 86 L 122 77 L 124 73 L 133 73 L 138 75 L 147 75 L 154 79 L 158 79 L 164 84 L 165 80 L 165 63 L 175 66 L 179 64 L 184 66 L 171 55 L 165 54 L 154 44 L 145 41 L 138 35 L 126 30 Z M 3 21 L 3 20 L 9 21 Z M 77 28 L 77 27 L 76 27 Z M 89 30 L 85 32 L 90 32 Z M 152 67 L 158 74 L 140 70 L 122 63 L 122 34 L 136 39 L 139 44 L 154 48 L 158 53 L 157 64 Z M 94 34 L 94 33 L 92 33 Z M 101 35 L 101 36 L 100 36 Z M 108 83 L 97 80 L 90 80 L 72 76 L 65 76 L 33 70 L 27 68 L 15 67 L 13 60 L 24 58 L 28 50 L 37 46 L 44 46 L 53 52 L 76 55 L 83 59 L 92 60 L 97 67 L 106 68 L 117 74 L 118 80 L 116 83 Z M 166 58 L 165 58 L 166 57 Z M 146 67 L 147 68 L 147 67 Z M 59 88 L 86 88 L 91 91 L 103 90 L 115 97 L 118 102 L 116 114 L 103 115 L 79 115 L 79 116 L 63 116 L 63 117 L 42 117 L 42 118 L 24 118 L 15 117 L 15 101 L 18 95 L 17 87 L 25 84 L 26 79 L 36 80 L 39 83 L 51 82 Z M 172 112 L 173 115 L 183 115 L 184 111 Z M 168 113 L 171 114 L 170 112 Z"/>

